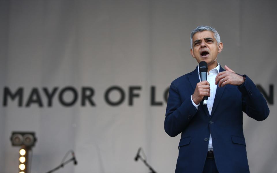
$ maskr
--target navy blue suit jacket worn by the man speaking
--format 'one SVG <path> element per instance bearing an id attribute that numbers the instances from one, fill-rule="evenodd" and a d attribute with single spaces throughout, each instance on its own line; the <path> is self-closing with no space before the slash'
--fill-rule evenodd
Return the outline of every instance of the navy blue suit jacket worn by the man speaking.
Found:
<path id="1" fill-rule="evenodd" d="M 218 171 L 249 172 L 242 115 L 245 112 L 257 121 L 266 119 L 269 109 L 263 95 L 247 76 L 240 87 L 217 86 L 210 116 L 203 101 L 198 110 L 192 104 L 190 96 L 198 82 L 196 67 L 193 72 L 175 79 L 169 89 L 164 129 L 172 137 L 181 133 L 175 173 L 203 171 L 210 133 Z"/>

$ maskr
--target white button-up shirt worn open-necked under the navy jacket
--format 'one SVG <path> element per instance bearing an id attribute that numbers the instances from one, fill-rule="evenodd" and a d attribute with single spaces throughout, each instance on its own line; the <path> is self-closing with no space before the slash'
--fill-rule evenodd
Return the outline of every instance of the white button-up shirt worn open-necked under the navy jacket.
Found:
<path id="1" fill-rule="evenodd" d="M 207 74 L 207 81 L 209 82 L 210 88 L 211 88 L 211 91 L 210 91 L 211 94 L 210 94 L 210 97 L 208 97 L 208 100 L 207 100 L 207 108 L 208 108 L 210 116 L 211 116 L 212 108 L 213 108 L 213 105 L 214 105 L 214 96 L 216 95 L 217 85 L 215 84 L 215 80 L 216 80 L 216 75 L 218 73 L 219 73 L 219 64 L 217 63 L 216 68 L 210 70 L 209 73 Z M 199 66 L 198 66 L 198 77 L 199 77 L 199 81 L 201 81 L 200 74 L 199 74 Z M 198 105 L 196 105 L 194 103 L 194 101 L 192 100 L 192 95 L 191 95 L 190 98 L 191 98 L 192 104 L 198 110 L 198 106 L 200 105 L 200 103 Z M 212 142 L 211 134 L 210 134 L 209 145 L 208 145 L 208 151 L 210 151 L 210 150 L 213 150 L 213 142 Z"/>

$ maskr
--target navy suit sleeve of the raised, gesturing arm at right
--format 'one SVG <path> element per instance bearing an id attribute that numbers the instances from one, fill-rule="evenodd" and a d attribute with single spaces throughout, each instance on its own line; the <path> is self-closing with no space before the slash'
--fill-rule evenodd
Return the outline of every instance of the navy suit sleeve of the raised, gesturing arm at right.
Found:
<path id="1" fill-rule="evenodd" d="M 263 121 L 269 115 L 267 103 L 252 80 L 246 75 L 245 77 L 244 84 L 238 87 L 242 93 L 243 112 L 257 121 Z"/>

